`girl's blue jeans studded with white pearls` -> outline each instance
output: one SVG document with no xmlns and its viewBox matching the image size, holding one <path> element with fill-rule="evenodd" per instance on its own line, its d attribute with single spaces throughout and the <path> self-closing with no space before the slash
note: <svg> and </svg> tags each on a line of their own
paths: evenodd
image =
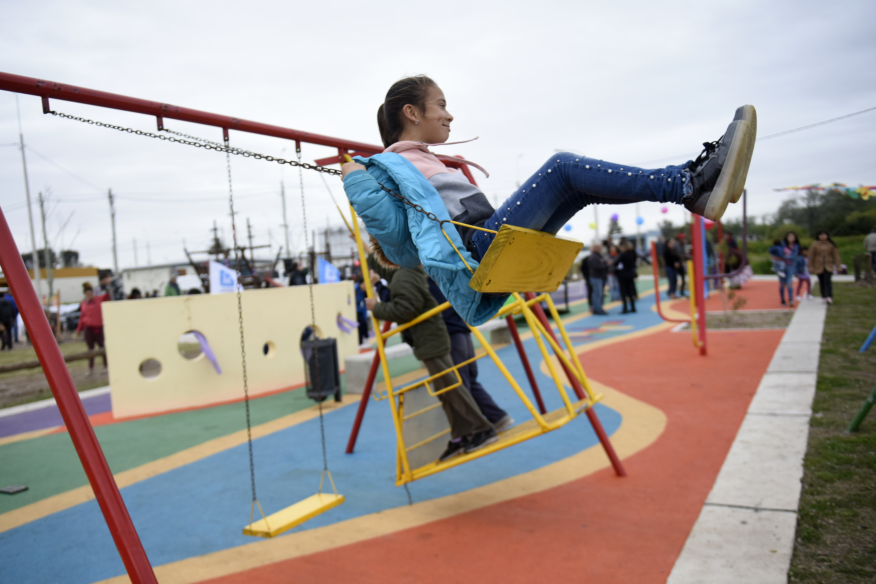
<svg viewBox="0 0 876 584">
<path fill-rule="evenodd" d="M 484 227 L 498 229 L 507 223 L 556 233 L 588 205 L 637 201 L 681 204 L 692 189 L 687 164 L 644 169 L 559 152 L 502 203 Z M 477 260 L 484 257 L 493 237 L 485 231 L 472 237 Z"/>
</svg>

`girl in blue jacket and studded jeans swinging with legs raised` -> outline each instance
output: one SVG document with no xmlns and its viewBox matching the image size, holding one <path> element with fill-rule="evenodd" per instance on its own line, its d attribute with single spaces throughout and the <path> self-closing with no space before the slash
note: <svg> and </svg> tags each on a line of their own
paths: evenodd
<svg viewBox="0 0 876 584">
<path fill-rule="evenodd" d="M 495 230 L 507 223 L 555 234 L 587 205 L 635 201 L 676 203 L 714 221 L 742 194 L 757 134 L 754 107 L 744 105 L 724 136 L 704 143 L 696 160 L 683 165 L 643 169 L 560 152 L 494 209 L 477 186 L 443 165 L 441 158 L 475 166 L 489 176 L 483 168 L 429 151 L 447 143 L 452 121 L 434 81 L 425 75 L 396 81 L 378 108 L 386 150 L 343 165 L 343 187 L 368 229 L 376 257 L 387 267 L 422 264 L 472 326 L 490 320 L 508 296 L 475 292 L 469 286 L 471 271 L 465 263 L 476 269 L 495 235 L 458 225 L 444 229 L 457 254 L 442 233 L 442 223 L 399 196 L 440 221 Z"/>
</svg>

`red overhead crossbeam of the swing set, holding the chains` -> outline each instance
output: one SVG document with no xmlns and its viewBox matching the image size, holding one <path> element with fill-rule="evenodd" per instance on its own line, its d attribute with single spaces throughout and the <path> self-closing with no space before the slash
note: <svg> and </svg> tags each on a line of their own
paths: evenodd
<svg viewBox="0 0 876 584">
<path fill-rule="evenodd" d="M 147 116 L 156 116 L 159 120 L 169 117 L 175 120 L 182 120 L 183 122 L 202 123 L 204 125 L 215 126 L 227 130 L 238 130 L 242 132 L 250 132 L 252 134 L 262 134 L 264 136 L 281 137 L 286 138 L 287 140 L 307 142 L 307 144 L 321 144 L 323 146 L 363 151 L 371 154 L 377 154 L 378 152 L 384 151 L 383 146 L 376 146 L 374 144 L 364 144 L 362 142 L 353 142 L 352 140 L 343 140 L 336 137 L 321 136 L 311 132 L 281 128 L 268 123 L 251 122 L 233 116 L 220 116 L 219 114 L 211 114 L 207 111 L 200 111 L 198 109 L 180 108 L 180 106 L 170 105 L 169 103 L 150 102 L 149 100 L 138 99 L 137 97 L 110 94 L 106 91 L 80 88 L 73 85 L 66 85 L 64 83 L 36 79 L 34 77 L 4 73 L 2 71 L 0 71 L 0 89 L 19 94 L 39 95 L 40 97 L 46 98 L 44 100 L 44 108 L 48 103 L 49 98 L 60 99 L 67 102 L 87 103 L 88 105 L 96 105 L 102 108 L 121 109 L 123 111 L 145 114 Z M 48 112 L 44 109 L 44 113 Z"/>
</svg>

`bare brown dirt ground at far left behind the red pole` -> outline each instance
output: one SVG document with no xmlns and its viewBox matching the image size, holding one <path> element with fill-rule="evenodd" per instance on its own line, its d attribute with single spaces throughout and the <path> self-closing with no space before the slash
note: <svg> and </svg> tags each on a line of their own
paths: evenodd
<svg viewBox="0 0 876 584">
<path fill-rule="evenodd" d="M 21 340 L 24 341 L 24 339 Z M 64 355 L 70 355 L 83 353 L 88 350 L 88 347 L 85 345 L 85 341 L 80 341 L 70 335 L 61 339 L 60 350 Z M 37 354 L 33 347 L 25 342 L 17 343 L 11 351 L 0 351 L 0 365 L 32 361 L 36 358 Z M 73 377 L 77 391 L 91 390 L 109 384 L 107 371 L 103 369 L 102 357 L 95 359 L 95 372 L 92 376 L 88 376 L 88 360 L 86 359 L 68 362 L 67 369 L 70 371 L 70 376 Z M 49 389 L 42 368 L 19 369 L 18 371 L 0 373 L 0 408 L 51 397 L 52 390 Z"/>
</svg>

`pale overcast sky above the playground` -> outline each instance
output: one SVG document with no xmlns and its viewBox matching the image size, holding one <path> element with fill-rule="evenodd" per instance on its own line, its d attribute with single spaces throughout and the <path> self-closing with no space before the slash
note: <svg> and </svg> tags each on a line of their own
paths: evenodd
<svg viewBox="0 0 876 584">
<path fill-rule="evenodd" d="M 0 2 L 0 70 L 379 144 L 378 105 L 393 81 L 425 73 L 456 116 L 436 148 L 491 172 L 491 201 L 512 193 L 557 149 L 646 167 L 681 164 L 720 137 L 734 110 L 758 109 L 759 135 L 876 106 L 873 2 Z M 223 154 L 44 116 L 19 96 L 31 193 L 51 190 L 46 225 L 55 249 L 112 266 L 106 189 L 117 193 L 120 267 L 184 259 L 213 222 L 230 239 Z M 53 100 L 53 109 L 141 130 L 148 116 Z M 166 120 L 220 140 L 221 130 Z M 0 144 L 18 142 L 15 95 L 0 91 Z M 294 145 L 231 132 L 231 143 L 286 158 Z M 774 212 L 781 186 L 876 184 L 876 111 L 759 143 L 748 175 L 749 215 Z M 285 151 L 283 149 L 286 149 Z M 40 158 L 36 152 L 71 174 Z M 305 144 L 304 158 L 329 156 Z M 688 154 L 688 157 L 679 155 Z M 693 156 L 691 156 L 693 155 Z M 675 158 L 672 158 L 675 157 Z M 668 159 L 666 159 L 668 158 Z M 659 161 L 659 162 L 654 162 Z M 232 161 L 240 222 L 255 243 L 283 244 L 281 180 L 292 247 L 302 249 L 298 171 Z M 343 204 L 341 181 L 326 177 Z M 304 172 L 308 229 L 341 223 L 326 186 Z M 21 154 L 0 146 L 0 208 L 30 250 Z M 617 212 L 597 206 L 604 234 Z M 39 208 L 34 207 L 35 220 Z M 644 228 L 681 222 L 641 203 Z M 725 217 L 741 215 L 741 205 Z M 590 241 L 592 208 L 570 236 Z M 66 227 L 62 226 L 66 222 Z M 39 224 L 38 224 L 39 225 Z M 39 226 L 38 226 L 39 229 Z M 239 229 L 239 228 L 238 228 Z M 38 235 L 41 245 L 41 235 Z"/>
</svg>

